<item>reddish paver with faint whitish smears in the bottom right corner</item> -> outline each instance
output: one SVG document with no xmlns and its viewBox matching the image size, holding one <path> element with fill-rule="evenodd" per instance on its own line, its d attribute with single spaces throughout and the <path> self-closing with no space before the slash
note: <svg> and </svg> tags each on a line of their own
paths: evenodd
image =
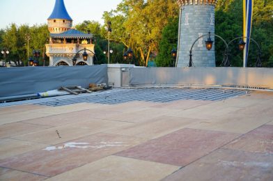
<svg viewBox="0 0 273 181">
<path fill-rule="evenodd" d="M 273 180 L 273 157 L 220 149 L 164 180 Z"/>
</svg>

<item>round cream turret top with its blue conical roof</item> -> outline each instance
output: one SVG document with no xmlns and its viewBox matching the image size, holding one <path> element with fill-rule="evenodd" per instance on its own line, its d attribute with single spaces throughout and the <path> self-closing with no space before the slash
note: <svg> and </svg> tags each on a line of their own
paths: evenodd
<svg viewBox="0 0 273 181">
<path fill-rule="evenodd" d="M 72 27 L 72 18 L 68 15 L 63 0 L 56 0 L 52 14 L 47 19 L 50 33 L 62 33 Z"/>
</svg>

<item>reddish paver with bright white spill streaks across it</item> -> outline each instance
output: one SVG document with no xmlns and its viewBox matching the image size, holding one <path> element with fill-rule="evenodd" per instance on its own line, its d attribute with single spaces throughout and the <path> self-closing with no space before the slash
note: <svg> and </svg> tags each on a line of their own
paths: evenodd
<svg viewBox="0 0 273 181">
<path fill-rule="evenodd" d="M 0 166 L 54 176 L 143 143 L 143 139 L 116 134 L 93 134 L 59 145 L 0 160 Z"/>
</svg>

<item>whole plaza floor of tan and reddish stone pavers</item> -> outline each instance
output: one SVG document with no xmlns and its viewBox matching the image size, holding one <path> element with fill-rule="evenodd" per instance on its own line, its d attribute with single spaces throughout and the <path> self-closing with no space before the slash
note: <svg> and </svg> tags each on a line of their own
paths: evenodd
<svg viewBox="0 0 273 181">
<path fill-rule="evenodd" d="M 273 180 L 273 92 L 210 91 L 1 103 L 0 180 Z"/>
</svg>

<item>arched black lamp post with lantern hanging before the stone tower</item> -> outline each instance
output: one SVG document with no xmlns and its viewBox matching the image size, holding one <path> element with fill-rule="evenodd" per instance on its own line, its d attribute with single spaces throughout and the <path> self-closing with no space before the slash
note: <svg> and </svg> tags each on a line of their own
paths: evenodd
<svg viewBox="0 0 273 181">
<path fill-rule="evenodd" d="M 192 47 L 191 49 L 189 50 L 189 67 L 192 67 L 193 65 L 193 62 L 192 62 L 192 48 L 194 47 L 194 44 L 200 39 L 200 38 L 203 38 L 204 36 L 208 36 L 208 40 L 205 41 L 205 47 L 210 51 L 210 49 L 212 49 L 212 44 L 213 44 L 213 41 L 212 39 L 210 38 L 210 35 L 211 33 L 208 32 L 208 34 L 205 34 L 203 36 L 199 36 L 195 41 L 194 43 L 192 44 Z M 226 43 L 226 41 L 221 38 L 221 36 L 218 36 L 216 34 L 213 34 L 214 36 L 217 36 L 218 38 L 220 38 L 226 45 L 226 49 L 225 49 L 225 52 L 224 52 L 224 60 L 226 60 L 226 62 L 228 62 L 228 44 Z"/>
</svg>

